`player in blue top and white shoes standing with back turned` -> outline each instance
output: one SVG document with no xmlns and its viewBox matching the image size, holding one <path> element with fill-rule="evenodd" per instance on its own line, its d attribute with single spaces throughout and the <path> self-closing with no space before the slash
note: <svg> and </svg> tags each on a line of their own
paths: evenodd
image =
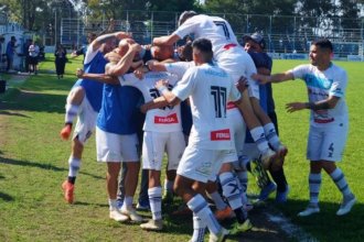
<svg viewBox="0 0 364 242">
<path fill-rule="evenodd" d="M 108 64 L 106 66 L 106 75 L 96 75 L 97 80 L 106 82 L 96 127 L 97 161 L 107 164 L 109 217 L 120 222 L 129 219 L 136 222 L 142 221 L 142 218 L 132 208 L 140 162 L 138 138 L 131 117 L 140 97 L 137 89 L 120 87 L 120 85 L 115 85 L 114 82 L 109 84 L 107 82 L 108 79 L 103 78 L 103 76 L 117 77 L 129 72 L 135 64 L 135 56 L 140 50 L 140 45 L 136 44 L 131 38 L 120 41 L 117 54 L 122 56 L 121 59 L 117 64 Z M 84 77 L 92 79 L 93 75 L 85 74 Z M 121 209 L 119 209 L 116 198 L 121 162 L 127 164 L 128 172 L 126 174 L 125 201 Z"/>
</svg>

